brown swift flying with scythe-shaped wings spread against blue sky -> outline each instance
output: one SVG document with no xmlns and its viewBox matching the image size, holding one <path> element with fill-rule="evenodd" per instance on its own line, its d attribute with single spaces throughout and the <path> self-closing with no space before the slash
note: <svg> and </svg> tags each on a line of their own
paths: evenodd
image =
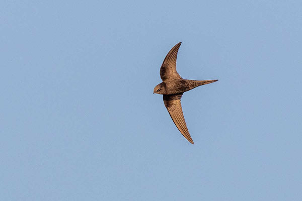
<svg viewBox="0 0 302 201">
<path fill-rule="evenodd" d="M 174 124 L 181 134 L 192 144 L 194 144 L 188 131 L 185 118 L 182 112 L 180 98 L 182 94 L 197 86 L 209 84 L 212 80 L 190 80 L 183 79 L 176 71 L 176 58 L 181 42 L 177 43 L 167 54 L 161 66 L 160 75 L 162 83 L 155 86 L 153 93 L 163 94 L 164 104 L 172 118 Z"/>
</svg>

